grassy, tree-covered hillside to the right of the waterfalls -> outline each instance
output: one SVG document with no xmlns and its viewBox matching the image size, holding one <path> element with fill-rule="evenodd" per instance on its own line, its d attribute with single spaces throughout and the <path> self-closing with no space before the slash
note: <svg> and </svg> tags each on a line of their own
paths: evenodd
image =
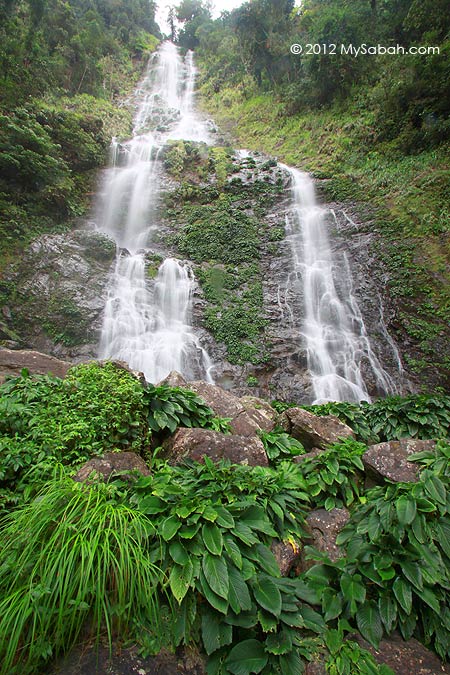
<svg viewBox="0 0 450 675">
<path fill-rule="evenodd" d="M 449 29 L 444 0 L 308 0 L 296 8 L 255 0 L 196 30 L 208 112 L 241 146 L 312 172 L 325 197 L 349 202 L 370 223 L 406 365 L 443 385 L 450 372 Z M 290 53 L 294 43 L 301 55 Z M 341 53 L 341 44 L 362 43 L 440 53 Z"/>
</svg>

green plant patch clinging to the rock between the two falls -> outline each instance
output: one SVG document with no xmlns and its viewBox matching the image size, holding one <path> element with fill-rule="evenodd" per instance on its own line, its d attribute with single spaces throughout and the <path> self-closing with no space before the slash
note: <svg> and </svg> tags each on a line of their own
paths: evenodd
<svg viewBox="0 0 450 675">
<path fill-rule="evenodd" d="M 231 363 L 268 358 L 260 259 L 284 230 L 264 215 L 282 191 L 273 164 L 234 159 L 227 148 L 178 141 L 165 166 L 181 185 L 166 197 L 171 236 L 181 256 L 194 263 L 207 306 L 204 325 L 224 343 Z M 247 171 L 251 182 L 236 174 Z M 272 251 L 273 252 L 273 251 Z"/>
</svg>

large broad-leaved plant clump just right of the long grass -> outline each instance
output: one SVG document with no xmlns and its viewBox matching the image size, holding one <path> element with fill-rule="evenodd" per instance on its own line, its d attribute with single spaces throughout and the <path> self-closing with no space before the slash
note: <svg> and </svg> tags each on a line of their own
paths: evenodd
<svg viewBox="0 0 450 675">
<path fill-rule="evenodd" d="M 308 604 L 318 599 L 302 582 L 281 579 L 270 550 L 273 539 L 303 534 L 307 495 L 297 471 L 205 458 L 161 466 L 134 487 L 133 503 L 160 537 L 154 560 L 179 604 L 174 644 L 188 642 L 200 621 L 211 674 L 287 675 L 305 651 L 311 658 L 324 629 Z"/>
</svg>

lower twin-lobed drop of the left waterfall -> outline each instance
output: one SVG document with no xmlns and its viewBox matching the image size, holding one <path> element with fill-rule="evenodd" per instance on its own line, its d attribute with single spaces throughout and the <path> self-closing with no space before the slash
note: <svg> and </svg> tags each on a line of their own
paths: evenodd
<svg viewBox="0 0 450 675">
<path fill-rule="evenodd" d="M 187 379 L 213 382 L 213 363 L 190 325 L 194 278 L 190 268 L 166 258 L 153 289 L 147 287 L 143 254 L 121 254 L 115 295 L 105 308 L 100 355 L 125 361 L 158 382 L 176 370 Z"/>
</svg>

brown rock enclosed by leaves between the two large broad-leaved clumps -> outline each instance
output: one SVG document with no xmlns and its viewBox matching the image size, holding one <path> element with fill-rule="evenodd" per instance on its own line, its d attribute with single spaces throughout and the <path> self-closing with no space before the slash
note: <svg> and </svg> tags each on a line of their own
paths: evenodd
<svg viewBox="0 0 450 675">
<path fill-rule="evenodd" d="M 343 553 L 336 544 L 336 537 L 344 525 L 348 523 L 350 514 L 347 509 L 316 509 L 311 511 L 306 524 L 311 535 L 311 546 L 326 553 L 333 562 L 342 557 Z M 304 572 L 314 565 L 313 560 L 306 560 L 303 556 L 300 560 L 300 570 Z"/>
</svg>

